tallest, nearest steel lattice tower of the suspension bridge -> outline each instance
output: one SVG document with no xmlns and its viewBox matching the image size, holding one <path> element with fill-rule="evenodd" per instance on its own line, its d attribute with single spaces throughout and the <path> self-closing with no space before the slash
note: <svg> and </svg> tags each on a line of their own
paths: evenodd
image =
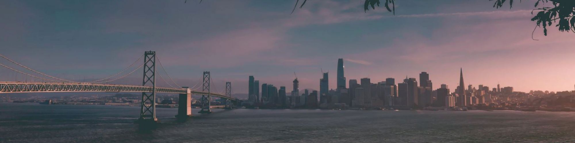
<svg viewBox="0 0 575 143">
<path fill-rule="evenodd" d="M 142 92 L 140 118 L 142 122 L 157 122 L 156 118 L 156 51 L 144 52 L 144 77 L 142 86 L 152 86 L 149 92 Z"/>
</svg>

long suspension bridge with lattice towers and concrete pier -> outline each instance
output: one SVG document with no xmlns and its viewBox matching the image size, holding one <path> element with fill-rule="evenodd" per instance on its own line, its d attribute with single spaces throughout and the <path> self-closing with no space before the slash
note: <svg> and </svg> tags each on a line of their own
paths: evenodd
<svg viewBox="0 0 575 143">
<path fill-rule="evenodd" d="M 23 67 L 26 70 L 29 70 L 33 73 L 39 74 L 41 76 L 34 76 L 33 74 L 25 73 L 15 68 L 3 65 L 0 63 L 0 66 L 6 67 L 7 69 L 13 70 L 14 72 L 25 74 L 26 76 L 37 78 L 43 81 L 49 82 L 5 82 L 0 81 L 0 93 L 50 93 L 50 92 L 137 92 L 141 93 L 141 101 L 140 101 L 140 118 L 137 122 L 140 123 L 155 123 L 158 122 L 158 118 L 156 118 L 156 93 L 171 93 L 171 94 L 179 94 L 178 100 L 178 114 L 176 115 L 179 119 L 185 119 L 191 117 L 191 95 L 200 95 L 200 104 L 201 109 L 200 112 L 202 114 L 212 113 L 212 105 L 210 105 L 210 101 L 212 97 L 218 97 L 225 99 L 225 105 L 223 106 L 224 109 L 232 109 L 233 102 L 236 99 L 232 98 L 232 86 L 231 82 L 225 82 L 225 93 L 216 93 L 212 91 L 210 85 L 213 84 L 212 77 L 210 72 L 204 72 L 202 74 L 202 85 L 195 87 L 200 83 L 194 85 L 194 87 L 179 87 L 179 85 L 171 79 L 171 77 L 167 74 L 166 69 L 162 66 L 162 63 L 159 61 L 159 58 L 156 56 L 155 51 L 145 51 L 144 55 L 136 60 L 140 61 L 140 59 L 144 58 L 144 63 L 140 66 L 136 67 L 132 72 L 129 72 L 123 76 L 120 76 L 121 73 L 126 72 L 129 67 L 135 65 L 136 62 L 132 63 L 132 65 L 128 66 L 121 72 L 114 74 L 113 76 L 102 78 L 100 80 L 89 81 L 89 82 L 76 82 L 71 80 L 64 80 L 62 78 L 57 78 L 54 76 L 49 76 L 48 74 L 44 74 L 38 72 L 37 70 L 33 70 L 27 66 L 21 65 L 20 63 L 13 61 L 10 58 L 5 57 L 4 55 L 0 55 L 0 57 L 7 59 L 8 61 Z M 168 80 L 173 82 L 174 85 L 178 87 L 174 87 L 164 79 L 161 74 L 156 74 L 156 61 L 158 61 L 160 67 L 162 67 L 164 73 L 166 73 Z M 116 85 L 116 84 L 105 84 L 111 81 L 116 81 L 121 78 L 124 78 L 132 73 L 134 73 L 138 69 L 143 69 L 143 78 L 142 84 L 140 85 Z M 168 86 L 171 88 L 162 88 L 156 86 L 156 76 L 159 76 L 161 80 L 166 82 Z M 116 77 L 116 78 L 113 78 Z M 218 106 L 219 107 L 219 106 Z"/>
</svg>

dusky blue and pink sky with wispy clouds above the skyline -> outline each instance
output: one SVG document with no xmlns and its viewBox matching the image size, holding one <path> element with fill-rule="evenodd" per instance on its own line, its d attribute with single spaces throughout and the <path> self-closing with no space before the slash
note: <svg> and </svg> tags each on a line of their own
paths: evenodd
<svg viewBox="0 0 575 143">
<path fill-rule="evenodd" d="M 296 0 L 199 2 L 0 1 L 0 54 L 55 77 L 89 81 L 152 50 L 166 69 L 156 69 L 163 78 L 192 87 L 209 71 L 216 90 L 230 81 L 234 93 L 247 93 L 248 76 L 292 90 L 294 72 L 300 89 L 318 90 L 322 70 L 335 89 L 338 58 L 347 80 L 419 80 L 427 72 L 434 88 L 453 90 L 462 68 L 474 87 L 574 90 L 575 33 L 533 31 L 535 1 L 496 9 L 488 0 L 405 0 L 396 2 L 395 15 L 384 7 L 364 12 L 356 0 L 308 1 L 293 14 Z M 3 67 L 0 73 L 2 81 L 41 81 Z M 141 73 L 110 83 L 141 85 Z"/>
</svg>

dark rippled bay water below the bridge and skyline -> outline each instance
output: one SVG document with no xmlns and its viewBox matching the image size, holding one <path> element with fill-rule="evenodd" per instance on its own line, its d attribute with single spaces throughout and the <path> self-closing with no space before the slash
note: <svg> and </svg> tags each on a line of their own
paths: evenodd
<svg viewBox="0 0 575 143">
<path fill-rule="evenodd" d="M 550 142 L 575 141 L 572 112 L 214 110 L 187 122 L 158 108 L 149 132 L 137 106 L 0 103 L 0 142 Z"/>
</svg>

